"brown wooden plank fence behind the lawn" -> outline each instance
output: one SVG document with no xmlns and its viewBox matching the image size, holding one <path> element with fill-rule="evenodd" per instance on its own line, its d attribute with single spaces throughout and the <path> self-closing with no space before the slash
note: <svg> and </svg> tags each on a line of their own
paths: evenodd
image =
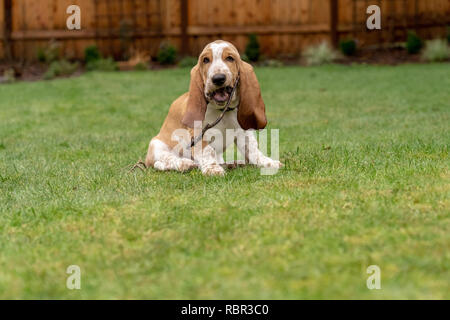
<svg viewBox="0 0 450 320">
<path fill-rule="evenodd" d="M 71 4 L 81 8 L 81 30 L 66 28 Z M 381 8 L 381 31 L 365 27 L 371 4 Z M 297 55 L 323 40 L 402 41 L 409 29 L 434 38 L 447 25 L 449 0 L 0 0 L 0 59 L 33 60 L 51 39 L 69 58 L 94 43 L 118 59 L 130 48 L 154 56 L 162 41 L 196 55 L 218 38 L 243 50 L 251 33 L 266 56 Z"/>
</svg>

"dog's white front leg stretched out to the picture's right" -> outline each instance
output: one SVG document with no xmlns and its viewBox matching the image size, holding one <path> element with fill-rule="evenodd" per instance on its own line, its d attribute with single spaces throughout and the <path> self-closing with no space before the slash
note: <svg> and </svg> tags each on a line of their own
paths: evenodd
<svg viewBox="0 0 450 320">
<path fill-rule="evenodd" d="M 253 130 L 240 131 L 236 145 L 239 152 L 245 155 L 245 162 L 256 165 L 261 168 L 279 169 L 283 165 L 278 160 L 273 160 L 266 157 L 258 148 L 258 141 L 256 140 Z"/>
</svg>

